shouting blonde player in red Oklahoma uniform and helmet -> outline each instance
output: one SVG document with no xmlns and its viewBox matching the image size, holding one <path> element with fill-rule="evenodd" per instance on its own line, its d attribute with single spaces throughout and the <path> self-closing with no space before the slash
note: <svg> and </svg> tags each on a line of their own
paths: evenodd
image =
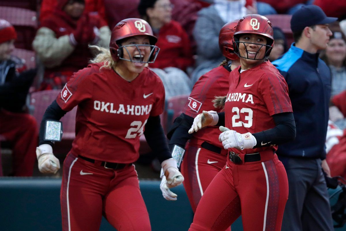
<svg viewBox="0 0 346 231">
<path fill-rule="evenodd" d="M 158 153 L 167 187 L 184 179 L 160 124 L 163 84 L 145 67 L 156 59 L 156 41 L 146 21 L 120 21 L 110 49 L 99 47 L 92 64 L 73 74 L 44 114 L 36 154 L 40 171 L 51 173 L 60 165 L 53 143 L 44 140 L 45 121 L 59 120 L 78 106 L 76 138 L 63 167 L 63 230 L 99 230 L 102 214 L 117 230 L 151 230 L 132 164 L 139 157 L 142 134 Z"/>
</svg>

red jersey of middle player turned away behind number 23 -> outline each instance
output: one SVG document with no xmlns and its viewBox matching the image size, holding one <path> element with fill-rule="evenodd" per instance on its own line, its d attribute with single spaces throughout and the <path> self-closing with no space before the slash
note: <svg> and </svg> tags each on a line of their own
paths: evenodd
<svg viewBox="0 0 346 231">
<path fill-rule="evenodd" d="M 215 109 L 212 100 L 215 96 L 225 96 L 228 91 L 229 71 L 224 66 L 218 66 L 206 74 L 202 75 L 193 86 L 192 92 L 183 109 L 185 115 L 196 117 L 203 110 L 214 110 L 220 112 L 221 109 Z M 206 127 L 193 133 L 190 144 L 197 143 L 201 145 L 207 141 L 215 146 L 224 148 L 219 141 L 220 130 L 218 127 Z"/>
</svg>

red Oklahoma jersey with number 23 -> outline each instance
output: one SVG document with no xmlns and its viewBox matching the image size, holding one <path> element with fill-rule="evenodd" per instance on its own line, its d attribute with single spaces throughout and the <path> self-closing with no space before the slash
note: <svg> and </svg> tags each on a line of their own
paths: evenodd
<svg viewBox="0 0 346 231">
<path fill-rule="evenodd" d="M 225 124 L 241 134 L 256 133 L 275 127 L 272 115 L 292 112 L 288 86 L 279 71 L 269 61 L 239 72 L 240 66 L 230 72 L 229 91 L 225 104 Z M 270 147 L 238 150 L 235 153 L 255 153 Z"/>
</svg>

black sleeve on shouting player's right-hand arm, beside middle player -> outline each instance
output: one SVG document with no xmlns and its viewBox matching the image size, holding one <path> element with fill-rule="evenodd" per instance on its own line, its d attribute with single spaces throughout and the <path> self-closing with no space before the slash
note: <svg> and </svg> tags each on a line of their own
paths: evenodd
<svg viewBox="0 0 346 231">
<path fill-rule="evenodd" d="M 172 158 L 165 133 L 160 123 L 160 116 L 149 116 L 145 125 L 144 136 L 160 163 Z"/>
</svg>

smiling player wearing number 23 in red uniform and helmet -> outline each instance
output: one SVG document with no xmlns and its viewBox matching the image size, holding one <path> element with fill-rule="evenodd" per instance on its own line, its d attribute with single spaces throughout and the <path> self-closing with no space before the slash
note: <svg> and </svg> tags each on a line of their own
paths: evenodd
<svg viewBox="0 0 346 231">
<path fill-rule="evenodd" d="M 287 84 L 268 61 L 273 29 L 261 15 L 239 20 L 233 37 L 240 66 L 230 72 L 224 113 L 197 115 L 189 133 L 220 126 L 229 151 L 224 168 L 201 198 L 190 231 L 225 230 L 242 215 L 244 231 L 281 230 L 288 181 L 277 145 L 295 137 Z M 234 130 L 229 130 L 233 128 Z"/>
</svg>

